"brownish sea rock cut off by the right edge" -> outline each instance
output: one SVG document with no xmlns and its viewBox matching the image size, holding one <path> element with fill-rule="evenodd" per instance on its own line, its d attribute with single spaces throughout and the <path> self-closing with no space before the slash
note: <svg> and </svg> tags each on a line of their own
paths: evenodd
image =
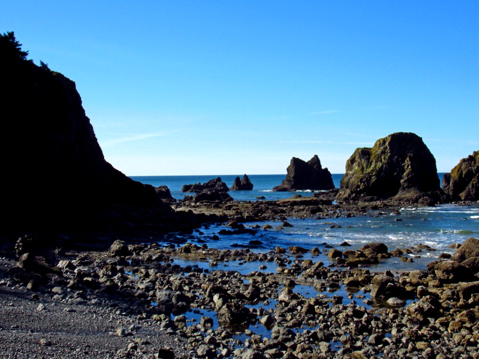
<svg viewBox="0 0 479 359">
<path fill-rule="evenodd" d="M 479 200 L 479 151 L 462 159 L 444 175 L 443 190 L 453 199 Z"/>
</svg>

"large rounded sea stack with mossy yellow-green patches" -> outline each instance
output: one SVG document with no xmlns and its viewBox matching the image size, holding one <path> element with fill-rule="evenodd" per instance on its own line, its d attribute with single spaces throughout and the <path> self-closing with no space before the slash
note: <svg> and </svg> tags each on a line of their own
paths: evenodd
<svg viewBox="0 0 479 359">
<path fill-rule="evenodd" d="M 421 137 L 398 132 L 373 148 L 358 148 L 346 163 L 338 200 L 409 197 L 440 191 L 436 160 Z"/>
</svg>

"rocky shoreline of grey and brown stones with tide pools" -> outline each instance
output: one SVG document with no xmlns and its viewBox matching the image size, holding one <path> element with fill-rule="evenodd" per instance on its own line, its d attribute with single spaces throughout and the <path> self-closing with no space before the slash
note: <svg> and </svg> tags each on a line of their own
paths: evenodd
<svg viewBox="0 0 479 359">
<path fill-rule="evenodd" d="M 115 241 L 40 257 L 22 254 L 23 238 L 18 261 L 0 259 L 0 349 L 8 358 L 479 358 L 478 242 L 428 270 L 373 273 L 354 257 L 385 259 L 384 245 L 304 260 L 300 247 Z M 341 260 L 325 266 L 325 256 Z M 258 270 L 229 271 L 232 262 Z M 264 271 L 273 262 L 276 272 Z"/>
</svg>

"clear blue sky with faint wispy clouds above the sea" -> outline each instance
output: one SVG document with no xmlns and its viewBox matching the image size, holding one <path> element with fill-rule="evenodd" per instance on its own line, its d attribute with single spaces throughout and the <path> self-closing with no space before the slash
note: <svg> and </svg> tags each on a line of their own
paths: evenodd
<svg viewBox="0 0 479 359">
<path fill-rule="evenodd" d="M 0 24 L 130 176 L 344 173 L 398 131 L 439 172 L 479 150 L 479 1 L 2 1 Z"/>
</svg>

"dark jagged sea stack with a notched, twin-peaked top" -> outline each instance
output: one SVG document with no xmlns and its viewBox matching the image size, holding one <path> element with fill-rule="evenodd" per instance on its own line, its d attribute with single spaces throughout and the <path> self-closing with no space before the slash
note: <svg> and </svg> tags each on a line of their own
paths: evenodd
<svg viewBox="0 0 479 359">
<path fill-rule="evenodd" d="M 323 169 L 321 167 L 317 155 L 314 155 L 308 162 L 293 157 L 286 172 L 286 178 L 282 180 L 280 185 L 275 186 L 273 191 L 327 190 L 334 188 L 331 173 L 327 168 Z"/>
</svg>

